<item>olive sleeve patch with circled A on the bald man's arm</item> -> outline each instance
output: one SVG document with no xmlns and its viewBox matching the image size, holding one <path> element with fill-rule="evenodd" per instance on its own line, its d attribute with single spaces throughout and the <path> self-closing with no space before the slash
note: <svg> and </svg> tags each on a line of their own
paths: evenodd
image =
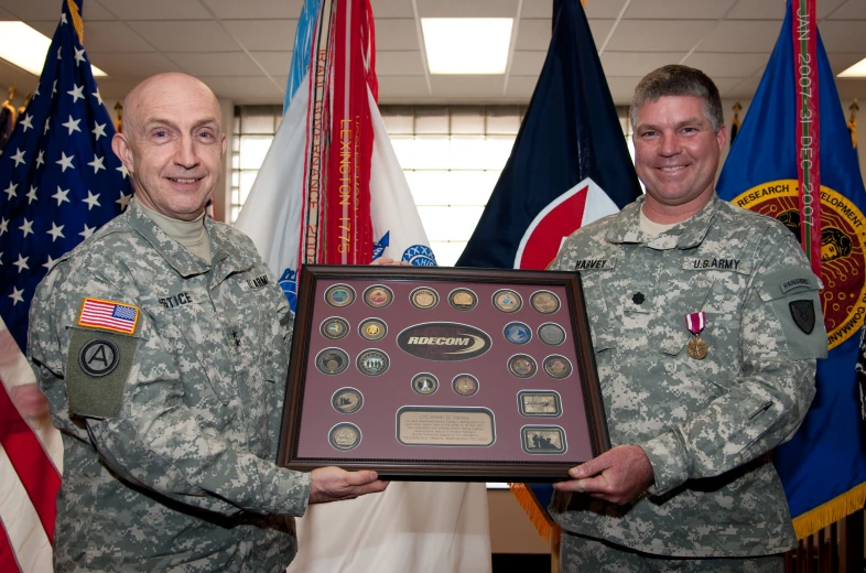
<svg viewBox="0 0 866 573">
<path fill-rule="evenodd" d="M 88 418 L 117 418 L 123 387 L 136 363 L 139 338 L 110 332 L 69 328 L 66 392 L 69 412 Z"/>
</svg>

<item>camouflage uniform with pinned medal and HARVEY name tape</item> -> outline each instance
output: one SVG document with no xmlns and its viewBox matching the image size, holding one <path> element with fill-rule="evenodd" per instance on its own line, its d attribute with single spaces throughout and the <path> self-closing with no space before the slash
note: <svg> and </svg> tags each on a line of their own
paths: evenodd
<svg viewBox="0 0 866 573">
<path fill-rule="evenodd" d="M 641 446 L 654 484 L 627 506 L 555 493 L 551 511 L 569 531 L 654 555 L 783 552 L 795 538 L 764 454 L 814 396 L 819 281 L 773 219 L 714 195 L 653 238 L 642 204 L 576 231 L 552 268 L 581 272 L 610 442 Z M 686 353 L 685 315 L 699 311 L 703 360 Z"/>
</svg>

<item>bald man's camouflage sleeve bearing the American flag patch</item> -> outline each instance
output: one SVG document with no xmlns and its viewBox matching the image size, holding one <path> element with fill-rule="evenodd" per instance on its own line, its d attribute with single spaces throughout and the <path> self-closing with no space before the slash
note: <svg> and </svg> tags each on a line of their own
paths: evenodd
<svg viewBox="0 0 866 573">
<path fill-rule="evenodd" d="M 63 267 L 37 289 L 29 344 L 31 365 L 48 397 L 55 425 L 89 441 L 120 478 L 188 506 L 224 515 L 240 510 L 303 515 L 310 475 L 281 468 L 199 425 L 202 417 L 216 414 L 185 404 L 180 372 L 188 365 L 176 364 L 176 356 L 147 313 L 140 314 L 132 335 L 84 331 L 85 343 L 113 342 L 121 361 L 110 375 L 78 380 L 86 382 L 85 389 L 105 394 L 101 406 L 97 404 L 99 415 L 87 415 L 82 407 L 71 403 L 75 391 L 82 391 L 80 386 L 73 387 L 78 368 L 74 361 L 89 357 L 94 368 L 101 370 L 111 352 L 110 346 L 99 350 L 98 345 L 79 349 L 86 347 L 76 343 L 82 333 L 76 326 L 82 300 L 87 296 L 139 305 L 136 284 L 123 282 L 120 273 L 94 273 L 84 268 L 86 264 Z M 97 352 L 102 354 L 94 354 Z M 118 371 L 121 380 L 115 383 L 109 377 Z M 117 393 L 116 401 L 112 393 Z"/>
</svg>

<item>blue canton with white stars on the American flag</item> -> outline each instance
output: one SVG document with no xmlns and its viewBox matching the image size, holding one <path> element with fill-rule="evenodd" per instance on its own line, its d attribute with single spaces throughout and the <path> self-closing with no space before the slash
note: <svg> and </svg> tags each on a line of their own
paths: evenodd
<svg viewBox="0 0 866 573">
<path fill-rule="evenodd" d="M 62 4 L 36 91 L 0 155 L 0 316 L 22 352 L 30 301 L 53 261 L 117 216 L 132 193 L 76 32 L 78 10 Z"/>
</svg>

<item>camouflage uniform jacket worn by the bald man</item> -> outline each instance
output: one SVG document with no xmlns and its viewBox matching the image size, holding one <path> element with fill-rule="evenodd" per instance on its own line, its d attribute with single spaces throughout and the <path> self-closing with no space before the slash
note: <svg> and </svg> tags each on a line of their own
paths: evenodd
<svg viewBox="0 0 866 573">
<path fill-rule="evenodd" d="M 310 476 L 274 463 L 288 304 L 246 236 L 205 226 L 213 263 L 132 202 L 36 291 L 28 356 L 64 444 L 57 572 L 275 572 L 297 550 Z M 133 332 L 83 327 L 88 298 L 139 309 Z"/>
</svg>

